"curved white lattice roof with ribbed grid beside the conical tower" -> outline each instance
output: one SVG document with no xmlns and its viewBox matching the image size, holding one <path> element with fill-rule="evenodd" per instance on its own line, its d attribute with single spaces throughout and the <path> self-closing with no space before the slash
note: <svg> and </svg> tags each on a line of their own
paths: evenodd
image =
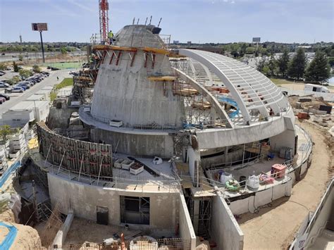
<svg viewBox="0 0 334 250">
<path fill-rule="evenodd" d="M 223 82 L 237 102 L 245 121 L 250 120 L 249 113 L 254 109 L 268 117 L 271 109 L 278 114 L 289 105 L 280 89 L 268 77 L 245 63 L 209 51 L 180 49 L 179 53 L 201 63 L 207 79 L 211 80 L 213 77 L 210 74 L 214 73 Z"/>
</svg>

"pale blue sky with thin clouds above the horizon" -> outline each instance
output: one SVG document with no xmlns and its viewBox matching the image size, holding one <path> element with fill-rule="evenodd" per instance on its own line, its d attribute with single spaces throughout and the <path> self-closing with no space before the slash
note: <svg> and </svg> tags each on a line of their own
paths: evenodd
<svg viewBox="0 0 334 250">
<path fill-rule="evenodd" d="M 99 32 L 98 0 L 0 0 L 0 41 L 39 42 L 31 23 L 48 23 L 45 42 L 89 42 Z M 140 18 L 161 34 L 193 43 L 333 42 L 333 0 L 109 0 L 116 33 Z"/>
</svg>

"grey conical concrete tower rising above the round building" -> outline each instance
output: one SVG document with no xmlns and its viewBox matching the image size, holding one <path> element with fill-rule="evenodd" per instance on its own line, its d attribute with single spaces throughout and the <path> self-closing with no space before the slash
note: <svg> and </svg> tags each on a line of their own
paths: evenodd
<svg viewBox="0 0 334 250">
<path fill-rule="evenodd" d="M 128 25 L 120 30 L 114 45 L 127 48 L 163 49 L 151 25 Z M 132 58 L 135 56 L 134 60 Z M 109 51 L 101 63 L 94 87 L 91 114 L 95 120 L 122 120 L 125 127 L 182 127 L 184 105 L 174 96 L 172 85 L 152 82 L 150 76 L 173 75 L 165 54 L 137 50 Z"/>
</svg>

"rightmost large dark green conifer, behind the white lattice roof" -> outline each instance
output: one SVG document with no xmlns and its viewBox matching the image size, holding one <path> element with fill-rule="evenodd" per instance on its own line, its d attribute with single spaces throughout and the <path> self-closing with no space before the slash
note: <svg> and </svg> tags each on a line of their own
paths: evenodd
<svg viewBox="0 0 334 250">
<path fill-rule="evenodd" d="M 305 77 L 311 82 L 325 82 L 330 78 L 330 65 L 325 53 L 316 51 L 316 56 L 309 64 Z"/>
</svg>

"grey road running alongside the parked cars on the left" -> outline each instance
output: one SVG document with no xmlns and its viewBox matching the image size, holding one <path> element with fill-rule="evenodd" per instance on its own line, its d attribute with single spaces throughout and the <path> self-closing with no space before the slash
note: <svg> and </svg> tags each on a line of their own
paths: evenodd
<svg viewBox="0 0 334 250">
<path fill-rule="evenodd" d="M 29 96 L 32 96 L 36 92 L 38 92 L 40 89 L 43 89 L 44 87 L 47 86 L 54 86 L 57 83 L 61 82 L 63 78 L 65 77 L 71 77 L 68 73 L 70 70 L 57 70 L 50 72 L 50 76 L 44 78 L 41 82 L 37 83 L 36 85 L 30 87 L 30 89 L 27 89 L 23 93 L 13 93 L 9 94 L 11 96 L 11 99 L 8 101 L 5 101 L 4 104 L 0 105 L 0 120 L 2 123 L 1 116 L 3 113 L 8 111 L 9 108 L 13 107 L 14 105 L 18 104 L 20 101 L 25 101 Z M 57 81 L 57 77 L 59 80 Z M 0 90 L 1 93 L 4 92 L 4 89 Z"/>
</svg>

